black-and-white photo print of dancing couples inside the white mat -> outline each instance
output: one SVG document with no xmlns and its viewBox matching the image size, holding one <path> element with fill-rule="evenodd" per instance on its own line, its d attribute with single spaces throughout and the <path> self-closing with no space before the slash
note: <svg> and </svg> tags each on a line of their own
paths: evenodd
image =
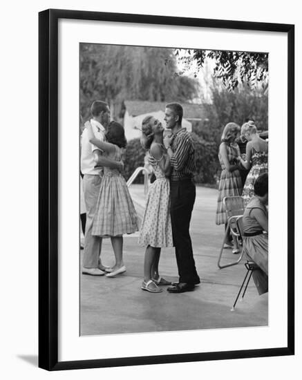
<svg viewBox="0 0 302 380">
<path fill-rule="evenodd" d="M 79 334 L 269 323 L 269 54 L 79 44 Z"/>
</svg>

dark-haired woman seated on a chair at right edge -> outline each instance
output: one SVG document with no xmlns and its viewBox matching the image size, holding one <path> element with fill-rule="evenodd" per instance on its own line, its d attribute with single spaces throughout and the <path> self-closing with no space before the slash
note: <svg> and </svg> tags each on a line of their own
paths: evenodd
<svg viewBox="0 0 302 380">
<path fill-rule="evenodd" d="M 253 272 L 259 294 L 268 292 L 268 175 L 259 175 L 254 184 L 254 197 L 243 213 L 243 250 L 260 269 Z"/>
</svg>

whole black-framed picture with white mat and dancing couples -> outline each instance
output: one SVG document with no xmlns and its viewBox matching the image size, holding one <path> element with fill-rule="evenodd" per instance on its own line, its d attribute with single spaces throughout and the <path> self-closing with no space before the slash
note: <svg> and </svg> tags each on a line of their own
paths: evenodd
<svg viewBox="0 0 302 380">
<path fill-rule="evenodd" d="M 39 366 L 292 354 L 293 26 L 39 27 Z"/>
</svg>

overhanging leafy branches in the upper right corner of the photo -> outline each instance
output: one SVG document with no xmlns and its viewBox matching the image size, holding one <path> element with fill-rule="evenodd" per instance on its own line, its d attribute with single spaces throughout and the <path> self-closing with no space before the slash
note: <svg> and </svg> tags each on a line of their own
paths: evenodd
<svg viewBox="0 0 302 380">
<path fill-rule="evenodd" d="M 265 82 L 268 78 L 267 53 L 176 49 L 175 55 L 185 67 L 182 73 L 195 64 L 195 76 L 204 66 L 206 59 L 213 59 L 214 77 L 220 78 L 229 91 L 233 91 L 240 82 L 254 88 L 257 82 Z"/>
</svg>

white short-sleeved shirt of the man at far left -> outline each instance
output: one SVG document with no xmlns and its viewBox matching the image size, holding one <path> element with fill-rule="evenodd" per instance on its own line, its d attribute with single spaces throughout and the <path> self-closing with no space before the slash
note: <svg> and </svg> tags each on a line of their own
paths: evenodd
<svg viewBox="0 0 302 380">
<path fill-rule="evenodd" d="M 105 140 L 105 129 L 102 124 L 97 122 L 96 120 L 91 119 L 91 125 L 93 127 L 93 133 L 95 137 L 100 139 L 101 141 Z M 81 152 L 81 171 L 83 174 L 91 174 L 91 175 L 100 175 L 102 173 L 103 168 L 97 167 L 95 168 L 95 160 L 93 160 L 93 151 L 101 149 L 97 148 L 97 146 L 91 144 L 88 140 L 87 129 L 84 129 L 82 133 L 82 152 Z"/>
</svg>

